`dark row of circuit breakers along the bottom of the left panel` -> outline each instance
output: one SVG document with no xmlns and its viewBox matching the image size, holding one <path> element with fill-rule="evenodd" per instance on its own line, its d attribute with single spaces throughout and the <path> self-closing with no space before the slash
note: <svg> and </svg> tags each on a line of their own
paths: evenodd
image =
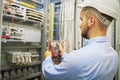
<svg viewBox="0 0 120 80">
<path fill-rule="evenodd" d="M 40 75 L 40 65 L 14 68 L 0 73 L 0 80 L 38 80 L 31 79 Z M 24 78 L 23 78 L 24 77 Z"/>
</svg>

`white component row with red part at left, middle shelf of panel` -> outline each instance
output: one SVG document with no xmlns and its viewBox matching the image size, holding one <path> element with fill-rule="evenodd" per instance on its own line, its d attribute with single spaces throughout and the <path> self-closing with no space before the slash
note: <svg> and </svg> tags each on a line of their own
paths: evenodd
<svg viewBox="0 0 120 80">
<path fill-rule="evenodd" d="M 41 42 L 41 31 L 11 26 L 2 27 L 2 42 L 18 40 L 22 42 Z"/>
</svg>

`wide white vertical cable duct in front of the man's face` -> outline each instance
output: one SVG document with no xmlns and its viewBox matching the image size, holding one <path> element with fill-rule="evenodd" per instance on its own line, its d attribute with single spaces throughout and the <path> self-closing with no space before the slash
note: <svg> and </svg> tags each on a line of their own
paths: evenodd
<svg viewBox="0 0 120 80">
<path fill-rule="evenodd" d="M 74 49 L 75 0 L 61 0 L 60 42 L 66 52 Z"/>
</svg>

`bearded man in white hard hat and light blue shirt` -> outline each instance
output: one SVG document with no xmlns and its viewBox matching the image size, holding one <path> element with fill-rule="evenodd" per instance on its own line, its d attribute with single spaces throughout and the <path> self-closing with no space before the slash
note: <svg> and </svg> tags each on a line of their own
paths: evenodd
<svg viewBox="0 0 120 80">
<path fill-rule="evenodd" d="M 106 37 L 106 31 L 117 18 L 117 3 L 116 0 L 85 0 L 80 5 L 81 35 L 89 40 L 83 48 L 69 54 L 58 43 L 62 55 L 62 62 L 58 65 L 53 63 L 51 52 L 46 51 L 42 71 L 47 80 L 113 80 L 118 56 Z"/>
</svg>

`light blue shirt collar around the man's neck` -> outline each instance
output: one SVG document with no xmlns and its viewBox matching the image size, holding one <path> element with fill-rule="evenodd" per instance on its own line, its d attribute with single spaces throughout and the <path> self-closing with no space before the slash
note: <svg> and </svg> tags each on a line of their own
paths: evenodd
<svg viewBox="0 0 120 80">
<path fill-rule="evenodd" d="M 102 42 L 108 42 L 108 38 L 106 36 L 91 38 L 84 43 L 84 46 L 87 46 L 92 43 L 102 43 Z"/>
</svg>

